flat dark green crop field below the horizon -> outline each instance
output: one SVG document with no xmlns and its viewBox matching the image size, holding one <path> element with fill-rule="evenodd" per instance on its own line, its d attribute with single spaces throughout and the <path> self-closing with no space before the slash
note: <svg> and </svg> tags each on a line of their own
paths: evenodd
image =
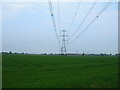
<svg viewBox="0 0 120 90">
<path fill-rule="evenodd" d="M 117 56 L 3 55 L 3 88 L 116 88 Z"/>
</svg>

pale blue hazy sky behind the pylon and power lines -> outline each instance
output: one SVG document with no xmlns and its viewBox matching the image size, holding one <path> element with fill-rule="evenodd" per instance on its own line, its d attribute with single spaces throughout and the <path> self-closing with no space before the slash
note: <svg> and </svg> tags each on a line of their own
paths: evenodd
<svg viewBox="0 0 120 90">
<path fill-rule="evenodd" d="M 82 22 L 93 2 L 81 2 L 73 26 L 71 24 L 78 2 L 60 2 L 61 29 L 71 35 Z M 97 2 L 79 31 L 78 36 L 95 18 L 107 2 Z M 52 2 L 58 34 L 58 6 Z M 48 2 L 9 2 L 3 4 L 2 50 L 30 53 L 59 53 Z M 112 53 L 118 52 L 118 3 L 113 2 L 98 19 L 70 43 L 67 52 Z"/>
</svg>

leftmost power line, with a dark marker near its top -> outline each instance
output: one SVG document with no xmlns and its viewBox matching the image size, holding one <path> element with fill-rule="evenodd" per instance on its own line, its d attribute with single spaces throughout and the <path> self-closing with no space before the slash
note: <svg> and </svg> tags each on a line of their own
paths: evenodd
<svg viewBox="0 0 120 90">
<path fill-rule="evenodd" d="M 55 18 L 54 18 L 54 14 L 53 14 L 53 8 L 52 8 L 51 0 L 48 1 L 48 4 L 49 4 L 50 14 L 51 14 L 52 21 L 53 21 L 53 26 L 54 26 L 55 35 L 56 35 L 58 44 L 60 45 L 60 41 L 59 41 L 59 36 L 58 36 L 58 34 L 57 34 L 57 28 L 56 28 Z"/>
</svg>

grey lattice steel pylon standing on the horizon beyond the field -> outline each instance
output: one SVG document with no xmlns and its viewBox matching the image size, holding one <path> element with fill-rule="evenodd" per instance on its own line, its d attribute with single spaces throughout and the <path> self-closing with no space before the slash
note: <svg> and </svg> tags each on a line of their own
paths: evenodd
<svg viewBox="0 0 120 90">
<path fill-rule="evenodd" d="M 66 54 L 66 44 L 68 42 L 68 40 L 67 40 L 67 38 L 68 38 L 67 30 L 65 30 L 65 29 L 61 30 L 60 36 L 62 37 L 61 54 L 64 55 L 64 54 Z"/>
</svg>

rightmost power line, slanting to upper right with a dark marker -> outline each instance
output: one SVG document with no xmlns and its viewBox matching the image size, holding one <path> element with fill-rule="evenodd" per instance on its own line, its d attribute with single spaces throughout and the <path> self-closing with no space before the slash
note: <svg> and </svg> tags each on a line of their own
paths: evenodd
<svg viewBox="0 0 120 90">
<path fill-rule="evenodd" d="M 105 7 L 98 13 L 98 15 L 87 25 L 87 27 L 75 38 L 73 39 L 70 43 L 78 39 L 88 28 L 96 21 L 96 19 L 107 9 L 107 7 L 111 4 L 111 2 L 108 2 Z"/>
</svg>

